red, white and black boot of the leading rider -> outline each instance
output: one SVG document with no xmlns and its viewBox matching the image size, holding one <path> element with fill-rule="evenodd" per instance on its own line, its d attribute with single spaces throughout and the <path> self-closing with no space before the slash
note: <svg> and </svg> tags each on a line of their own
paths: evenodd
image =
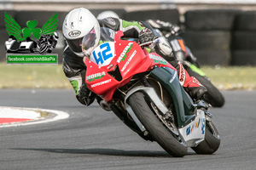
<svg viewBox="0 0 256 170">
<path fill-rule="evenodd" d="M 207 93 L 207 88 L 201 85 L 195 77 L 190 77 L 182 64 L 178 63 L 178 67 L 178 79 L 183 88 L 189 92 L 193 99 L 201 99 L 201 97 Z"/>
</svg>

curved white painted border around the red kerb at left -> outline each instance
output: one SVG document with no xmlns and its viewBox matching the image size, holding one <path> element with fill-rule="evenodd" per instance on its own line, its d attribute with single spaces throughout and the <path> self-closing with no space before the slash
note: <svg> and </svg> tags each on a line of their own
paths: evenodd
<svg viewBox="0 0 256 170">
<path fill-rule="evenodd" d="M 15 110 L 20 109 L 22 111 L 24 111 L 24 110 L 26 110 L 26 111 L 45 111 L 48 113 L 53 113 L 56 116 L 54 116 L 52 118 L 47 118 L 47 119 L 38 118 L 31 122 L 14 122 L 11 124 L 3 124 L 3 125 L 0 125 L 0 127 L 19 127 L 19 126 L 34 125 L 34 124 L 45 123 L 45 122 L 55 122 L 55 121 L 67 119 L 69 117 L 67 112 L 64 112 L 64 111 L 46 110 L 46 109 L 38 109 L 38 108 L 23 108 L 23 107 L 22 108 L 21 107 L 20 108 L 19 107 L 9 107 L 9 108 L 10 109 L 13 108 Z M 1 107 L 0 107 L 0 109 L 1 109 Z"/>
</svg>

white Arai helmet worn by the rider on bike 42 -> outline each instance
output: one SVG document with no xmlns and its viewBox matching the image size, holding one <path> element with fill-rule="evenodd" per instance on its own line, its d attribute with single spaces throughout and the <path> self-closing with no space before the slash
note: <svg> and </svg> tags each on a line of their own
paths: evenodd
<svg viewBox="0 0 256 170">
<path fill-rule="evenodd" d="M 96 17 L 86 8 L 70 11 L 62 26 L 69 48 L 80 57 L 90 56 L 100 40 L 100 26 Z"/>
</svg>

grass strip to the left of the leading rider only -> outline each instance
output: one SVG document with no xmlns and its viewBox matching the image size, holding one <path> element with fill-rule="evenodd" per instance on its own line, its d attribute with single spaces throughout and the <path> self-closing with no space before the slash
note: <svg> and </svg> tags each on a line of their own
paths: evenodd
<svg viewBox="0 0 256 170">
<path fill-rule="evenodd" d="M 72 88 L 61 65 L 0 65 L 0 88 Z"/>
</svg>

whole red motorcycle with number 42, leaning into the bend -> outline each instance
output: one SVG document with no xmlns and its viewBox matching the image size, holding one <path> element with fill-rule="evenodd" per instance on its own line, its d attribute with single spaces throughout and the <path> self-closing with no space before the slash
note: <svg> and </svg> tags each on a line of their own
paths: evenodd
<svg viewBox="0 0 256 170">
<path fill-rule="evenodd" d="M 122 31 L 102 32 L 103 43 L 90 59 L 84 57 L 84 64 L 87 87 L 105 107 L 171 156 L 184 156 L 188 147 L 198 154 L 218 150 L 220 138 L 208 106 L 189 97 L 175 68 L 160 55 L 148 54 L 145 44 L 122 40 Z"/>
</svg>

